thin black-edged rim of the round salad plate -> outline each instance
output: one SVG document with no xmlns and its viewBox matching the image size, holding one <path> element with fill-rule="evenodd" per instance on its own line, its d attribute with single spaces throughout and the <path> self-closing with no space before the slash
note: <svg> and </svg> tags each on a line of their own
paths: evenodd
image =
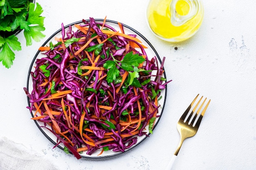
<svg viewBox="0 0 256 170">
<path fill-rule="evenodd" d="M 94 19 L 96 22 L 103 22 L 104 19 Z M 90 21 L 89 19 L 85 20 L 85 21 Z M 80 21 L 76 21 L 76 22 L 72 22 L 70 24 L 67 24 L 64 26 L 64 29 L 66 29 L 67 27 L 69 26 L 73 26 L 74 24 L 79 24 L 79 23 L 82 23 L 83 20 L 80 20 Z M 113 24 L 118 24 L 120 22 L 117 22 L 117 21 L 114 21 L 114 20 L 106 20 L 106 22 L 110 22 L 110 23 L 113 23 Z M 153 47 L 153 45 L 144 37 L 144 35 L 142 35 L 141 33 L 139 33 L 137 30 L 133 29 L 132 27 L 126 25 L 126 24 L 123 24 L 121 23 L 124 27 L 126 27 L 127 29 L 130 29 L 131 31 L 135 32 L 137 35 L 139 35 L 146 43 L 148 43 L 148 45 L 150 46 L 150 48 L 154 51 L 157 59 L 159 60 L 160 64 L 162 64 L 162 60 L 161 58 L 159 57 L 157 51 L 155 50 L 155 48 Z M 42 44 L 42 46 L 45 46 L 47 43 L 49 43 L 49 41 L 58 33 L 60 33 L 62 31 L 62 28 L 61 29 L 58 29 L 57 31 L 55 31 L 47 40 L 45 40 L 45 42 Z M 29 66 L 29 71 L 28 71 L 28 74 L 27 74 L 27 90 L 29 91 L 29 79 L 31 77 L 31 70 L 32 70 L 32 67 L 35 63 L 35 60 L 36 58 L 38 57 L 38 54 L 40 53 L 41 51 L 37 51 L 35 56 L 33 57 L 32 61 L 31 61 L 31 64 Z M 163 67 L 163 70 L 164 70 L 164 67 Z M 166 73 L 164 71 L 163 73 L 164 75 L 164 78 L 166 78 Z M 164 106 L 166 104 L 166 97 L 167 97 L 167 84 L 165 85 L 165 91 L 164 91 L 164 101 L 163 101 L 163 105 L 161 106 L 162 110 L 161 110 L 161 113 L 159 114 L 159 117 L 158 117 L 158 120 L 157 122 L 155 123 L 155 126 L 153 127 L 153 130 L 155 129 L 155 127 L 157 126 L 157 124 L 159 123 L 160 121 L 160 118 L 162 117 L 162 114 L 164 112 Z M 27 96 L 27 103 L 28 103 L 28 107 L 31 107 L 30 105 L 30 100 L 29 100 L 29 97 Z M 31 116 L 34 117 L 34 114 L 32 112 L 30 112 Z M 38 124 L 38 122 L 36 120 L 34 120 L 36 126 L 39 128 L 39 130 L 43 133 L 43 135 L 49 140 L 52 142 L 52 144 L 56 145 L 56 142 L 51 138 L 49 137 L 45 131 L 40 127 L 40 125 Z M 150 133 L 147 133 L 143 139 L 141 139 L 140 141 L 138 141 L 135 145 L 131 146 L 130 148 L 126 149 L 124 152 L 117 152 L 115 154 L 112 154 L 112 155 L 106 155 L 106 156 L 87 156 L 87 155 L 81 155 L 82 158 L 91 158 L 91 159 L 99 159 L 99 158 L 108 158 L 108 157 L 115 157 L 117 155 L 120 155 L 122 153 L 125 153 L 127 152 L 128 150 L 131 150 L 133 148 L 135 148 L 135 146 L 138 146 L 139 144 L 142 143 L 142 141 L 144 141 L 148 136 L 150 135 Z M 61 150 L 64 150 L 64 148 L 60 145 L 57 145 L 58 148 L 60 148 Z M 70 154 L 72 154 L 72 152 L 70 152 Z M 73 155 L 73 154 L 72 154 Z M 80 154 L 79 154 L 80 155 Z"/>
</svg>

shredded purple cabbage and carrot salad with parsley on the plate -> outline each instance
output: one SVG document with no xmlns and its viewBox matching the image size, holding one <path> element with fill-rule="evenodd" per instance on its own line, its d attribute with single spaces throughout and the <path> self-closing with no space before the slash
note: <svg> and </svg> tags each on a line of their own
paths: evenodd
<svg viewBox="0 0 256 170">
<path fill-rule="evenodd" d="M 124 152 L 137 137 L 153 133 L 158 100 L 166 88 L 164 60 L 148 59 L 136 35 L 94 18 L 65 29 L 56 43 L 41 46 L 31 71 L 33 89 L 24 88 L 33 113 L 57 138 L 56 146 L 79 153 Z M 74 29 L 74 28 L 73 28 Z"/>
</svg>

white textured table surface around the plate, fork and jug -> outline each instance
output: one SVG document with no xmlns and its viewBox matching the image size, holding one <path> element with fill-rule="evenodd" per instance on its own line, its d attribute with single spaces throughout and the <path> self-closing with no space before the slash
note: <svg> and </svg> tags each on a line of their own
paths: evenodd
<svg viewBox="0 0 256 170">
<path fill-rule="evenodd" d="M 163 170 L 180 140 L 176 124 L 200 93 L 211 103 L 198 133 L 184 141 L 173 170 L 256 169 L 256 4 L 254 0 L 203 0 L 204 21 L 185 42 L 156 38 L 145 20 L 148 0 L 36 0 L 43 7 L 46 37 L 25 45 L 9 69 L 0 66 L 0 137 L 44 155 L 60 170 Z M 117 157 L 77 160 L 55 148 L 37 128 L 23 91 L 38 47 L 64 25 L 104 18 L 143 34 L 166 57 L 168 93 L 153 135 Z M 175 50 L 174 47 L 178 49 Z M 0 63 L 2 65 L 2 63 Z"/>
</svg>

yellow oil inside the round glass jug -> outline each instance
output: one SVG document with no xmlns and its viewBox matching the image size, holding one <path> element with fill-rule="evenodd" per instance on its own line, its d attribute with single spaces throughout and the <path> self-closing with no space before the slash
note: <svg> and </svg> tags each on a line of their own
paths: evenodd
<svg viewBox="0 0 256 170">
<path fill-rule="evenodd" d="M 194 35 L 202 24 L 202 6 L 189 21 L 181 26 L 174 26 L 171 23 L 171 2 L 172 0 L 150 0 L 146 11 L 148 24 L 159 38 L 173 42 L 186 40 Z M 175 9 L 179 15 L 186 16 L 189 14 L 191 7 L 187 0 L 177 0 Z"/>
</svg>

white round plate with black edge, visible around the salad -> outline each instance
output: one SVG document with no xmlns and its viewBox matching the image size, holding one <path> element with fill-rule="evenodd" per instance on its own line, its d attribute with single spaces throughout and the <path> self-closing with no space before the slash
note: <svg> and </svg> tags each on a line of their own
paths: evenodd
<svg viewBox="0 0 256 170">
<path fill-rule="evenodd" d="M 103 22 L 102 19 L 95 19 L 96 22 Z M 76 27 L 74 26 L 74 24 L 80 24 L 82 23 L 82 21 L 79 22 L 74 22 L 72 24 L 69 24 L 67 26 L 65 26 L 65 29 L 67 30 L 69 26 L 72 26 L 72 31 L 76 31 Z M 112 20 L 106 20 L 106 24 L 112 26 L 114 29 L 116 29 L 117 31 L 119 31 L 119 25 L 116 21 L 112 21 Z M 153 46 L 150 44 L 150 42 L 148 42 L 148 40 L 141 35 L 138 31 L 136 31 L 135 29 L 132 29 L 130 26 L 127 26 L 125 24 L 123 24 L 124 26 L 124 33 L 125 34 L 135 34 L 137 35 L 137 38 L 139 38 L 139 40 L 141 40 L 142 44 L 144 44 L 145 46 L 147 46 L 148 48 L 145 49 L 146 54 L 148 56 L 148 59 L 150 60 L 152 57 L 156 56 L 158 63 L 161 64 L 162 61 L 159 57 L 159 55 L 157 54 L 157 52 L 155 51 L 155 49 L 153 48 Z M 62 29 L 59 29 L 58 31 L 56 31 L 48 40 L 46 40 L 46 42 L 42 45 L 42 46 L 49 46 L 49 42 L 53 42 L 57 43 L 56 40 L 54 40 L 55 37 L 62 37 L 61 35 L 61 31 Z M 45 57 L 45 55 L 42 55 L 40 51 L 38 51 L 33 59 L 33 61 L 31 62 L 31 66 L 29 68 L 29 73 L 28 73 L 28 77 L 27 77 L 27 89 L 29 90 L 29 93 L 31 93 L 32 91 L 32 80 L 31 80 L 31 71 L 34 71 L 34 66 L 36 66 L 35 64 L 35 60 L 37 58 L 41 58 L 41 57 Z M 163 77 L 166 78 L 166 75 L 164 73 Z M 159 100 L 159 104 L 161 105 L 161 107 L 159 107 L 158 109 L 158 116 L 156 121 L 155 121 L 155 126 L 156 127 L 157 123 L 159 122 L 159 119 L 163 113 L 163 109 L 164 109 L 164 104 L 166 101 L 166 93 L 167 93 L 167 86 L 165 89 L 162 90 L 161 95 L 162 95 L 162 99 Z M 30 102 L 29 102 L 29 98 L 27 98 L 28 101 L 28 106 L 30 107 Z M 34 113 L 31 113 L 31 116 L 34 117 Z M 49 130 L 47 130 L 46 128 L 41 128 L 40 126 L 44 126 L 42 122 L 40 121 L 35 121 L 36 125 L 38 126 L 38 128 L 41 130 L 41 132 L 45 135 L 45 137 L 47 137 L 47 139 L 49 139 L 49 141 L 51 141 L 53 144 L 56 144 L 56 137 L 55 135 L 52 134 L 52 132 L 49 132 Z M 148 132 L 148 126 L 146 127 L 146 130 L 144 130 L 146 132 L 147 135 L 150 135 L 150 133 Z M 140 136 L 137 138 L 137 143 L 135 145 L 133 145 L 132 147 L 128 148 L 127 150 L 130 150 L 131 148 L 134 148 L 135 146 L 137 146 L 138 144 L 140 144 L 144 139 L 146 139 L 147 135 L 144 136 Z M 59 148 L 61 148 L 63 150 L 64 145 L 60 144 L 58 145 Z M 125 151 L 127 151 L 125 150 Z M 86 155 L 86 152 L 81 153 L 81 157 L 91 157 L 91 158 L 102 158 L 102 157 L 110 157 L 110 156 L 114 156 L 114 155 L 119 155 L 123 152 L 113 152 L 112 150 L 108 150 L 108 151 L 104 151 L 101 155 L 99 155 L 99 153 L 101 152 L 100 150 L 97 150 L 96 152 L 94 152 L 92 155 Z M 99 156 L 97 156 L 99 155 Z"/>
</svg>

